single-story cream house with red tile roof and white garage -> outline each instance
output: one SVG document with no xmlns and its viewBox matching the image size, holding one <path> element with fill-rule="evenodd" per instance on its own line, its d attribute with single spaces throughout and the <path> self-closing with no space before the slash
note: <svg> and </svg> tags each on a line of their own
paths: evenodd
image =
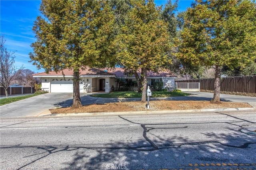
<svg viewBox="0 0 256 170">
<path fill-rule="evenodd" d="M 64 75 L 64 76 L 63 76 Z M 138 72 L 140 76 L 140 73 Z M 33 74 L 33 77 L 39 77 L 42 81 L 42 90 L 46 90 L 48 92 L 73 92 L 73 70 L 64 69 L 59 72 L 42 72 Z M 134 75 L 128 76 L 125 74 L 123 68 L 104 68 L 104 69 L 96 69 L 96 68 L 88 68 L 84 70 L 80 70 L 80 92 L 95 92 L 104 90 L 105 92 L 110 92 L 111 87 L 114 86 L 117 89 L 117 78 L 131 79 L 132 81 L 136 81 Z M 174 87 L 174 79 L 176 77 L 170 74 L 167 71 L 162 72 L 152 72 L 148 71 L 147 80 L 148 84 L 152 85 L 153 82 L 163 82 L 163 88 L 165 88 L 166 84 L 171 84 Z"/>
</svg>

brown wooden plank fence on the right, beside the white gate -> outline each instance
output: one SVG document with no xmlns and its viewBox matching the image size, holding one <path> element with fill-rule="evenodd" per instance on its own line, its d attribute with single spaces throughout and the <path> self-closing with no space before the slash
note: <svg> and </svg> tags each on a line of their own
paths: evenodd
<svg viewBox="0 0 256 170">
<path fill-rule="evenodd" d="M 214 90 L 215 78 L 195 79 L 195 80 L 177 80 L 175 82 L 200 82 L 200 90 Z M 256 93 L 256 75 L 255 76 L 234 76 L 221 78 L 220 91 Z"/>
</svg>

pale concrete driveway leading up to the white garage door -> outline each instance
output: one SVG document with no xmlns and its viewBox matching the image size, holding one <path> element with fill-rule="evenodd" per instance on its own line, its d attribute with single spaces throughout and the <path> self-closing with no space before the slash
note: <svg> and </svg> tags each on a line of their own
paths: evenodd
<svg viewBox="0 0 256 170">
<path fill-rule="evenodd" d="M 0 117 L 38 116 L 40 113 L 62 107 L 59 104 L 72 105 L 72 93 L 46 93 L 0 106 Z"/>
</svg>

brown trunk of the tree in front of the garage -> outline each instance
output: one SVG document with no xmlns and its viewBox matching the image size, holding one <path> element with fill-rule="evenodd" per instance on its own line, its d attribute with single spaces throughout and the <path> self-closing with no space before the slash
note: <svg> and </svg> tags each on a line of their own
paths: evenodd
<svg viewBox="0 0 256 170">
<path fill-rule="evenodd" d="M 80 86 L 79 86 L 79 71 L 74 70 L 74 79 L 73 79 L 73 106 L 72 107 L 81 107 L 81 98 L 80 98 Z"/>
</svg>

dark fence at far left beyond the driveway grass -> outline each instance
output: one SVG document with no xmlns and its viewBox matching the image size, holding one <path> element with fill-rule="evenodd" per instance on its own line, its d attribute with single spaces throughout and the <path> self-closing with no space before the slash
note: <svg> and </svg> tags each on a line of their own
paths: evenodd
<svg viewBox="0 0 256 170">
<path fill-rule="evenodd" d="M 28 94 L 28 93 L 34 93 L 35 88 L 34 87 L 8 87 L 8 95 L 13 94 Z M 0 95 L 5 95 L 5 91 L 3 87 L 0 87 Z"/>
</svg>

